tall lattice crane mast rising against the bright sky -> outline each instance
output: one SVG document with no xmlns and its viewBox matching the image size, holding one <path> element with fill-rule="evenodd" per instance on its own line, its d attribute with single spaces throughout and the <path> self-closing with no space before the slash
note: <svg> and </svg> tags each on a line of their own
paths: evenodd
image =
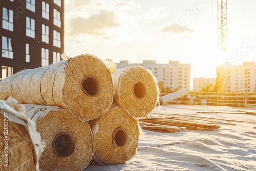
<svg viewBox="0 0 256 171">
<path fill-rule="evenodd" d="M 227 0 L 217 0 L 218 49 L 227 50 Z"/>
</svg>

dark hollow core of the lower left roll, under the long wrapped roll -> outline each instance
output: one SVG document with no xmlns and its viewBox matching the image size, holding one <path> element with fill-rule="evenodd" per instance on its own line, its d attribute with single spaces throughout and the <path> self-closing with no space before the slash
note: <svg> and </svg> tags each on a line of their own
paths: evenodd
<svg viewBox="0 0 256 171">
<path fill-rule="evenodd" d="M 75 151 L 76 142 L 73 135 L 62 132 L 55 136 L 52 141 L 54 153 L 59 157 L 68 157 Z"/>
</svg>

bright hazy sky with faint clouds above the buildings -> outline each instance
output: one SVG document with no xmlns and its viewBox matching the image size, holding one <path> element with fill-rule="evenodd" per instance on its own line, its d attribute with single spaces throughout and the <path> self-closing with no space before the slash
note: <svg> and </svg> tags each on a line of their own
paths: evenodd
<svg viewBox="0 0 256 171">
<path fill-rule="evenodd" d="M 228 51 L 217 50 L 217 0 L 65 0 L 65 53 L 113 62 L 179 60 L 191 79 L 254 60 L 256 1 L 228 1 Z M 233 54 L 233 55 L 232 55 Z"/>
</svg>

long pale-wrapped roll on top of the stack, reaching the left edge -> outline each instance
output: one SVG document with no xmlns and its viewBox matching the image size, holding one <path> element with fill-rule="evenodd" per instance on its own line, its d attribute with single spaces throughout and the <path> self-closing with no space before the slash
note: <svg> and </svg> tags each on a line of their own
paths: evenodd
<svg viewBox="0 0 256 171">
<path fill-rule="evenodd" d="M 0 81 L 0 92 L 0 100 L 12 96 L 24 104 L 59 106 L 82 120 L 103 115 L 114 96 L 110 70 L 89 54 L 20 71 Z"/>
</svg>

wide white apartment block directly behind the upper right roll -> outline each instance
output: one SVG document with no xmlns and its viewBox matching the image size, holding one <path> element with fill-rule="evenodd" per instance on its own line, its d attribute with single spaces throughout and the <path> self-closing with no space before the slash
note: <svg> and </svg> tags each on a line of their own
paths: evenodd
<svg viewBox="0 0 256 171">
<path fill-rule="evenodd" d="M 168 64 L 156 63 L 155 60 L 144 60 L 143 63 L 129 63 L 127 60 L 122 60 L 116 64 L 117 68 L 141 66 L 150 69 L 158 83 L 162 81 L 165 88 L 190 90 L 190 64 L 181 64 L 172 60 Z"/>
</svg>

